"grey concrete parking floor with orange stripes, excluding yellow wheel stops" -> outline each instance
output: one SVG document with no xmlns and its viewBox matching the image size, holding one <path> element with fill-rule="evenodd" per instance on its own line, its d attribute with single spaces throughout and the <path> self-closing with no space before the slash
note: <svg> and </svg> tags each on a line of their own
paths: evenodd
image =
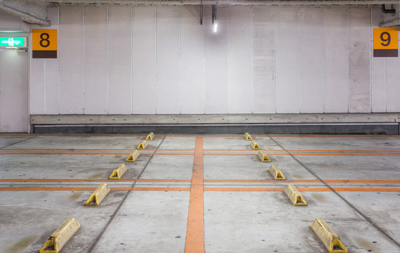
<svg viewBox="0 0 400 253">
<path fill-rule="evenodd" d="M 349 252 L 400 252 L 399 136 L 253 136 L 267 163 L 243 136 L 156 135 L 108 180 L 144 138 L 0 134 L 0 252 L 39 252 L 69 217 L 64 253 L 327 252 L 316 218 Z M 112 191 L 85 207 L 100 183 Z"/>
</svg>

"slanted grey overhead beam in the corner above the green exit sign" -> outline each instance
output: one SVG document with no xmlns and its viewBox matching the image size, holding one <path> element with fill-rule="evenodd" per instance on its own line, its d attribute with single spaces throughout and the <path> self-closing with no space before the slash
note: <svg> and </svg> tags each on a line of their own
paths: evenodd
<svg viewBox="0 0 400 253">
<path fill-rule="evenodd" d="M 47 4 L 44 2 L 0 0 L 0 11 L 18 16 L 31 24 L 50 25 L 47 20 Z"/>
</svg>

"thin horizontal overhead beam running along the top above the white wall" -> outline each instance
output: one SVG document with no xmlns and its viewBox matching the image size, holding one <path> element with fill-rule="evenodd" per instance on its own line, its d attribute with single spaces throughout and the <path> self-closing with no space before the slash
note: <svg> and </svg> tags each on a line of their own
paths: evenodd
<svg viewBox="0 0 400 253">
<path fill-rule="evenodd" d="M 164 6 L 177 6 L 177 5 L 213 5 L 216 0 L 179 0 L 179 1 L 166 1 L 166 0 L 28 0 L 28 1 L 41 1 L 51 4 L 60 5 L 135 5 L 135 6 L 149 6 L 149 5 L 164 5 Z M 218 0 L 218 6 L 333 6 L 333 5 L 376 5 L 376 4 L 399 4 L 399 0 Z"/>
</svg>

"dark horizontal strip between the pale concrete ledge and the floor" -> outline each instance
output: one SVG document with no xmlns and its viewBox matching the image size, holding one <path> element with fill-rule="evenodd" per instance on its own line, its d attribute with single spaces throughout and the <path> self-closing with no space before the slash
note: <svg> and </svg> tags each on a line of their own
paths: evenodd
<svg viewBox="0 0 400 253">
<path fill-rule="evenodd" d="M 399 123 L 386 124 L 127 124 L 31 125 L 34 134 L 385 134 L 399 135 Z"/>
</svg>

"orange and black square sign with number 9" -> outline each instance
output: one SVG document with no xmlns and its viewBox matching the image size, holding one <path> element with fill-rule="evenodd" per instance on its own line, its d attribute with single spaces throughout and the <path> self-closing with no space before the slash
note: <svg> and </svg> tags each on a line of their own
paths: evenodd
<svg viewBox="0 0 400 253">
<path fill-rule="evenodd" d="M 399 56 L 399 30 L 397 28 L 373 29 L 373 57 Z"/>
</svg>

